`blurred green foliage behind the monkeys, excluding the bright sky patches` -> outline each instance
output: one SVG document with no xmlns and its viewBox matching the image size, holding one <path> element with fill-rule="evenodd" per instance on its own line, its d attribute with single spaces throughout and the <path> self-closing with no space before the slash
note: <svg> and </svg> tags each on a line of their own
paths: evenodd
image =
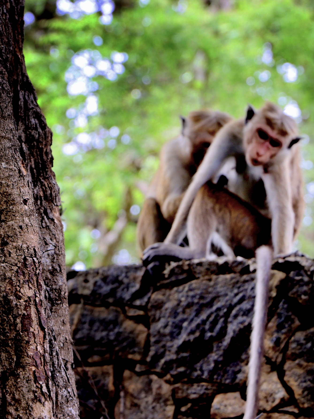
<svg viewBox="0 0 314 419">
<path fill-rule="evenodd" d="M 40 9 L 42 4 L 28 0 L 26 10 Z M 54 132 L 54 171 L 67 224 L 67 264 L 78 259 L 87 266 L 98 263 L 99 255 L 91 252 L 95 240 L 90 231 L 113 226 L 128 187 L 132 203 L 142 204 L 138 182 L 151 180 L 160 147 L 179 132 L 180 114 L 212 107 L 240 117 L 247 103 L 260 107 L 264 100 L 277 102 L 281 96 L 297 101 L 304 115 L 313 114 L 314 23 L 310 4 L 239 0 L 233 10 L 213 13 L 200 0 L 190 0 L 182 14 L 172 5 L 169 0 L 153 0 L 144 8 L 135 5 L 114 15 L 109 26 L 101 25 L 95 13 L 80 20 L 68 16 L 41 19 L 26 28 L 28 75 Z M 100 47 L 93 44 L 96 35 L 103 39 Z M 272 45 L 273 67 L 260 60 L 266 42 Z M 72 55 L 84 49 L 97 49 L 108 58 L 113 51 L 126 52 L 129 59 L 126 71 L 116 81 L 94 78 L 99 85 L 95 92 L 99 114 L 90 116 L 83 129 L 75 128 L 65 115 L 67 109 L 84 103 L 85 96 L 68 95 L 64 73 Z M 276 65 L 284 62 L 304 67 L 304 74 L 296 82 L 286 83 L 276 71 Z M 264 70 L 270 71 L 271 77 L 260 83 L 256 72 Z M 252 76 L 255 85 L 249 86 L 246 80 Z M 149 79 L 149 84 L 143 82 Z M 256 93 L 260 87 L 265 90 L 263 96 Z M 141 93 L 137 99 L 134 89 Z M 75 156 L 62 153 L 62 146 L 79 132 L 112 126 L 120 129 L 113 150 L 106 146 Z M 300 124 L 304 133 L 310 134 L 312 127 L 311 117 Z M 131 136 L 128 145 L 120 141 L 124 133 Z M 314 158 L 312 141 L 304 153 L 306 160 Z M 314 170 L 307 170 L 305 178 L 306 183 L 311 181 Z M 310 212 L 311 204 L 308 216 Z M 314 229 L 307 227 L 300 238 L 302 250 L 311 256 L 313 234 Z M 129 222 L 119 248 L 137 255 L 134 221 Z"/>
</svg>

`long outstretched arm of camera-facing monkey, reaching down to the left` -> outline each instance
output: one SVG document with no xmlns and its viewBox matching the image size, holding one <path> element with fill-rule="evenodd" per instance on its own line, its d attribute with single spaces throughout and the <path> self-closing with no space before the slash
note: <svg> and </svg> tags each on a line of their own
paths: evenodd
<svg viewBox="0 0 314 419">
<path fill-rule="evenodd" d="M 185 224 L 188 213 L 198 189 L 215 176 L 227 157 L 233 156 L 236 153 L 244 153 L 242 137 L 240 135 L 242 129 L 242 120 L 232 121 L 221 128 L 216 134 L 184 194 L 171 230 L 165 239 L 165 243 L 179 244 L 182 241 L 185 235 Z"/>
</svg>

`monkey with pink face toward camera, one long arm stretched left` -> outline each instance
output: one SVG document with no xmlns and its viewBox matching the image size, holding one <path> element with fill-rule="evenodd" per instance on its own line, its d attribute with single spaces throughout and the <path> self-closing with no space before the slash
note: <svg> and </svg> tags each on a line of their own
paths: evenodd
<svg viewBox="0 0 314 419">
<path fill-rule="evenodd" d="M 271 218 L 275 254 L 290 252 L 304 210 L 300 151 L 294 145 L 299 139 L 294 120 L 270 102 L 256 112 L 249 106 L 245 119 L 221 128 L 185 192 L 165 243 L 159 245 L 160 254 L 166 254 L 166 243 L 180 243 L 198 190 L 230 156 L 237 160 L 237 176 L 228 188 Z M 260 199 L 262 192 L 265 200 Z M 156 246 L 153 251 L 157 254 Z"/>
</svg>

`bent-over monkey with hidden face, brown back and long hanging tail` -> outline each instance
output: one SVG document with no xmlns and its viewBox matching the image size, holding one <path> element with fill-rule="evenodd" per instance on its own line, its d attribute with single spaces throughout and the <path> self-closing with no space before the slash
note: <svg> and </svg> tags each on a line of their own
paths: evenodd
<svg viewBox="0 0 314 419">
<path fill-rule="evenodd" d="M 255 305 L 244 416 L 244 419 L 255 419 L 268 311 L 268 284 L 273 259 L 271 220 L 223 188 L 226 182 L 227 178 L 223 175 L 217 184 L 208 181 L 197 192 L 187 221 L 189 247 L 167 243 L 162 250 L 167 256 L 172 255 L 179 259 L 214 259 L 216 255 L 212 252 L 213 245 L 216 250 L 221 249 L 222 253 L 231 258 L 243 256 L 249 259 L 256 253 Z M 145 266 L 153 261 L 154 256 L 160 257 L 158 243 L 156 246 L 156 254 L 154 245 L 147 252 L 144 251 Z"/>
</svg>

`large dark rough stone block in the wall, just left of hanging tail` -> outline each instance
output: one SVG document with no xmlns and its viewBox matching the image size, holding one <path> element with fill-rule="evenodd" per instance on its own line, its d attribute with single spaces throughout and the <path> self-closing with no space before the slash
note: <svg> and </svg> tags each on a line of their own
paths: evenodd
<svg viewBox="0 0 314 419">
<path fill-rule="evenodd" d="M 180 380 L 243 383 L 254 305 L 253 275 L 198 279 L 152 294 L 149 303 L 152 370 Z M 237 365 L 237 366 L 235 366 Z"/>
</svg>

